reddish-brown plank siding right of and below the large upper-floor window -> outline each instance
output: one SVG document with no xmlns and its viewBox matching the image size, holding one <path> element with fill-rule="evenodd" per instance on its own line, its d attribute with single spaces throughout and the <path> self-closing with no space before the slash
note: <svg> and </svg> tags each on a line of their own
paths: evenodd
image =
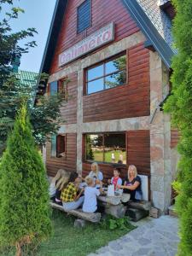
<svg viewBox="0 0 192 256">
<path fill-rule="evenodd" d="M 150 114 L 149 51 L 142 44 L 127 50 L 125 85 L 83 97 L 84 122 Z"/>
</svg>

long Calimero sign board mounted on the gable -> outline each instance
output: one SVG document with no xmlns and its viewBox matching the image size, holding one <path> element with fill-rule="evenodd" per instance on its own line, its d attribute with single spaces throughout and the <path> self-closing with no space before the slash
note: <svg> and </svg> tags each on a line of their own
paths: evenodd
<svg viewBox="0 0 192 256">
<path fill-rule="evenodd" d="M 108 42 L 113 41 L 113 39 L 114 27 L 113 23 L 110 23 L 108 26 L 102 27 L 89 37 L 84 38 L 84 40 L 80 41 L 78 44 L 75 44 L 71 48 L 62 52 L 61 55 L 59 55 L 59 67 L 87 54 L 91 50 L 96 49 L 103 44 L 108 44 Z"/>
</svg>

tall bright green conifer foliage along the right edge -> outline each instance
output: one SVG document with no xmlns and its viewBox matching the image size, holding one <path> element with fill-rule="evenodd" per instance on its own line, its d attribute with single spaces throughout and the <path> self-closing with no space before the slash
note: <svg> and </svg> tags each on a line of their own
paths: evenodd
<svg viewBox="0 0 192 256">
<path fill-rule="evenodd" d="M 178 54 L 172 61 L 172 96 L 165 110 L 172 113 L 172 123 L 182 138 L 177 146 L 181 160 L 176 207 L 180 218 L 181 242 L 178 254 L 192 255 L 192 2 L 172 0 L 177 15 L 173 35 Z"/>
</svg>

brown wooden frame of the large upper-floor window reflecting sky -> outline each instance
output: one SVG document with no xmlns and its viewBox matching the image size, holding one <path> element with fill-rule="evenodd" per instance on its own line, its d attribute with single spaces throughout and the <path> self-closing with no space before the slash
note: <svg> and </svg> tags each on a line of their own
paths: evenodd
<svg viewBox="0 0 192 256">
<path fill-rule="evenodd" d="M 125 65 L 125 68 L 120 69 L 120 70 L 118 70 L 118 71 L 115 71 L 115 72 L 113 72 L 113 73 L 108 73 L 108 74 L 106 74 L 106 63 L 108 63 L 109 61 L 113 61 L 113 60 L 115 60 L 115 59 L 118 59 L 119 57 L 121 57 L 121 56 L 123 56 L 123 55 L 125 55 L 125 58 L 126 58 L 126 65 Z M 90 96 L 90 95 L 93 95 L 93 94 L 95 94 L 95 93 L 99 93 L 99 92 L 102 92 L 102 91 L 105 91 L 105 90 L 111 90 L 111 89 L 114 89 L 114 88 L 116 88 L 116 87 L 118 87 L 118 86 L 125 86 L 126 84 L 128 84 L 128 75 L 127 75 L 127 73 L 128 73 L 128 63 L 127 63 L 127 61 L 128 61 L 128 60 L 127 60 L 127 59 L 128 59 L 128 58 L 127 58 L 127 50 L 124 50 L 124 51 L 120 52 L 119 54 L 113 55 L 113 56 L 109 57 L 108 59 L 106 59 L 106 60 L 104 60 L 104 61 L 97 62 L 96 64 L 91 65 L 90 67 L 84 68 L 84 96 Z M 101 66 L 102 64 L 104 65 L 104 67 L 103 67 L 104 75 L 103 75 L 103 76 L 96 77 L 95 79 L 90 79 L 90 80 L 88 81 L 88 71 L 89 71 L 90 69 L 94 68 L 94 67 Z M 98 91 L 95 91 L 95 92 L 92 92 L 92 93 L 89 93 L 89 94 L 88 94 L 88 83 L 103 78 L 103 79 L 104 79 L 104 83 L 103 83 L 103 84 L 104 84 L 104 87 L 105 87 L 106 77 L 108 77 L 108 76 L 110 76 L 110 75 L 112 75 L 112 74 L 115 74 L 115 73 L 122 72 L 122 71 L 125 71 L 125 74 L 126 74 L 126 79 L 125 79 L 125 83 L 124 83 L 124 84 L 116 85 L 116 86 L 114 86 L 114 87 L 112 87 L 112 88 L 107 88 L 107 89 L 104 88 L 103 90 L 98 90 Z"/>
</svg>

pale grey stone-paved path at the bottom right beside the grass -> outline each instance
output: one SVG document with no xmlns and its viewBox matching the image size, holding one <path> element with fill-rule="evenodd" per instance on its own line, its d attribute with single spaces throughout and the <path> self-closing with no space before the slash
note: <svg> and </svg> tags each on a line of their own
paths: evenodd
<svg viewBox="0 0 192 256">
<path fill-rule="evenodd" d="M 177 218 L 148 218 L 136 230 L 110 241 L 89 256 L 175 256 L 177 254 Z"/>
</svg>

